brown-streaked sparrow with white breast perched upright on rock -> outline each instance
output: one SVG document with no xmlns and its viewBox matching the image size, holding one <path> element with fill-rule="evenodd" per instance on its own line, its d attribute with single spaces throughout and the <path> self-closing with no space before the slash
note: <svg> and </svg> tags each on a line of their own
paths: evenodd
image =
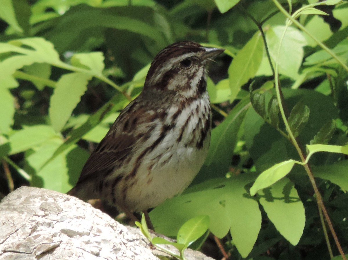
<svg viewBox="0 0 348 260">
<path fill-rule="evenodd" d="M 184 41 L 160 51 L 141 94 L 122 110 L 68 194 L 132 212 L 181 193 L 200 170 L 211 136 L 205 65 L 223 49 Z"/>
</svg>

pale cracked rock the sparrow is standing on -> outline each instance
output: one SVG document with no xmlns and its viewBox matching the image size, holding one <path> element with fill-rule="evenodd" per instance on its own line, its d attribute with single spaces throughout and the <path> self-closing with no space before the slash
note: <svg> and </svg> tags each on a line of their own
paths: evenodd
<svg viewBox="0 0 348 260">
<path fill-rule="evenodd" d="M 173 249 L 171 249 L 174 251 Z M 212 260 L 186 250 L 188 260 Z M 0 202 L 0 259 L 175 259 L 137 228 L 55 191 L 21 187 Z"/>
</svg>

